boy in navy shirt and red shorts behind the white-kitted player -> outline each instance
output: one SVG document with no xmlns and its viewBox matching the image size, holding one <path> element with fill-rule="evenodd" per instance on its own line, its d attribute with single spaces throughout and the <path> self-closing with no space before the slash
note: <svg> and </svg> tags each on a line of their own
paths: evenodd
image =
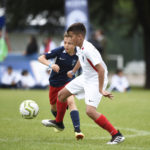
<svg viewBox="0 0 150 150">
<path fill-rule="evenodd" d="M 48 59 L 56 58 L 55 64 L 50 64 Z M 73 78 L 67 76 L 67 72 L 72 70 L 78 61 L 78 56 L 76 55 L 76 49 L 73 45 L 71 36 L 67 33 L 64 35 L 64 47 L 59 47 L 52 50 L 50 53 L 42 55 L 38 59 L 41 63 L 49 66 L 52 69 L 49 81 L 49 100 L 51 105 L 51 112 L 56 117 L 58 108 L 56 109 L 56 101 L 58 92 Z M 70 116 L 73 122 L 75 137 L 77 140 L 83 139 L 84 134 L 80 130 L 80 119 L 79 112 L 75 105 L 74 96 L 71 95 L 67 98 L 67 105 L 70 109 Z M 66 108 L 65 108 L 66 109 Z M 49 126 L 49 120 L 42 120 L 44 126 Z"/>
</svg>

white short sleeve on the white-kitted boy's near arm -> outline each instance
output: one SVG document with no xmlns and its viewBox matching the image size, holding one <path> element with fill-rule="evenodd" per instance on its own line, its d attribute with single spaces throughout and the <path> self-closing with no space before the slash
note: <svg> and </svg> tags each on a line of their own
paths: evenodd
<svg viewBox="0 0 150 150">
<path fill-rule="evenodd" d="M 94 46 L 88 47 L 85 55 L 94 66 L 102 62 L 102 57 Z"/>
</svg>

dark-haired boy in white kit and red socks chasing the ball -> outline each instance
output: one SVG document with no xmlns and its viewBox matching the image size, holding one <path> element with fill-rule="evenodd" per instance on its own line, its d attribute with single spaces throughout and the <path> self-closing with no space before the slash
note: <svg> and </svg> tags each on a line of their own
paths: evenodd
<svg viewBox="0 0 150 150">
<path fill-rule="evenodd" d="M 67 106 L 66 98 L 72 94 L 79 95 L 84 92 L 86 114 L 110 133 L 112 139 L 107 144 L 118 144 L 124 141 L 124 136 L 114 128 L 103 114 L 96 111 L 102 96 L 113 97 L 111 93 L 105 90 L 108 81 L 107 67 L 97 49 L 85 40 L 86 29 L 82 23 L 72 24 L 67 33 L 72 37 L 74 44 L 78 46 L 77 53 L 83 73 L 58 93 L 57 107 L 59 111 L 57 111 L 56 120 L 49 121 L 50 126 L 63 129 L 63 117 Z M 75 71 L 74 68 L 72 72 L 75 73 Z"/>
</svg>

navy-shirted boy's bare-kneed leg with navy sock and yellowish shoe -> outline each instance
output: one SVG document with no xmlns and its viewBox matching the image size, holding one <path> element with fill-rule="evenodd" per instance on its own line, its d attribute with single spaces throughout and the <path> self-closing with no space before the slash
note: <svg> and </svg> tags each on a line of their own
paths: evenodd
<svg viewBox="0 0 150 150">
<path fill-rule="evenodd" d="M 80 130 L 80 117 L 79 117 L 79 111 L 76 107 L 74 96 L 70 96 L 67 98 L 68 102 L 68 107 L 70 110 L 70 117 L 74 126 L 74 132 L 75 132 L 75 137 L 77 140 L 83 139 L 84 134 Z"/>
</svg>

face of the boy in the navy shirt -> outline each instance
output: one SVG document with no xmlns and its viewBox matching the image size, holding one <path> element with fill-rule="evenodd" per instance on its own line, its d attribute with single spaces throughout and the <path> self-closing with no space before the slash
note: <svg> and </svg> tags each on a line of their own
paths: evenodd
<svg viewBox="0 0 150 150">
<path fill-rule="evenodd" d="M 65 50 L 67 53 L 74 51 L 75 46 L 73 44 L 73 40 L 71 37 L 65 37 L 64 38 L 64 47 L 65 47 Z"/>
</svg>

